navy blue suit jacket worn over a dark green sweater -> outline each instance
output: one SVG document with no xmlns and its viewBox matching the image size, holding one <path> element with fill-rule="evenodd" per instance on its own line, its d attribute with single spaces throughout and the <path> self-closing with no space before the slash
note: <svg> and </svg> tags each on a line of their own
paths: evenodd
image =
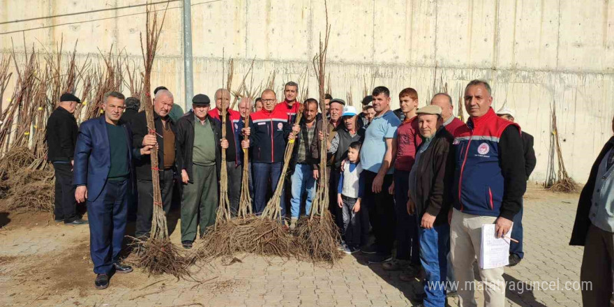
<svg viewBox="0 0 614 307">
<path fill-rule="evenodd" d="M 87 200 L 94 202 L 100 196 L 111 169 L 111 149 L 105 116 L 84 121 L 77 134 L 77 145 L 73 165 L 73 184 L 87 186 Z M 132 147 L 132 133 L 125 124 L 121 125 L 126 133 L 128 146 L 128 170 L 132 170 L 132 158 L 140 158 L 140 149 Z M 130 182 L 133 182 L 130 172 Z"/>
</svg>

